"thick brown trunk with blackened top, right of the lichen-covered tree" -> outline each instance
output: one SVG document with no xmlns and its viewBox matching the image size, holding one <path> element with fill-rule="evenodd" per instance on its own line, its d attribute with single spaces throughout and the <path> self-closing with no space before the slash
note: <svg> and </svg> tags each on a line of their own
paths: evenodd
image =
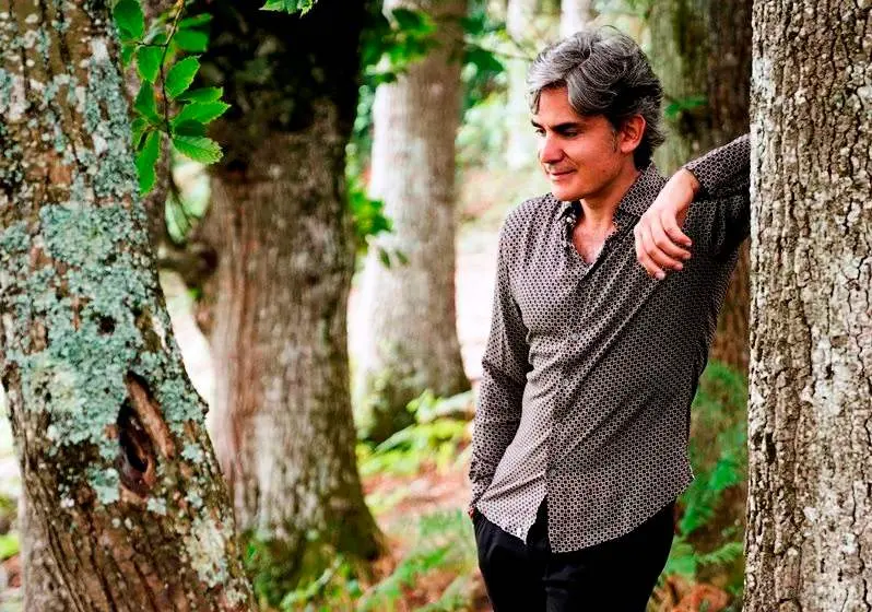
<svg viewBox="0 0 872 612">
<path fill-rule="evenodd" d="M 213 439 L 275 599 L 379 532 L 355 458 L 346 332 L 354 270 L 344 160 L 364 5 L 304 16 L 222 2 L 203 71 L 234 105 L 215 127 L 210 234 L 221 237 Z M 257 78 L 252 78 L 252 70 Z M 313 536 L 317 533 L 317 538 Z M 259 572 L 260 568 L 255 568 Z"/>
</svg>

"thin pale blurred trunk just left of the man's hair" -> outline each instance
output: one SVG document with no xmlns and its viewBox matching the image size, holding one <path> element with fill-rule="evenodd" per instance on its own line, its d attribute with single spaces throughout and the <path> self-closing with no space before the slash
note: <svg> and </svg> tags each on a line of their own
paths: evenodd
<svg viewBox="0 0 872 612">
<path fill-rule="evenodd" d="M 508 102 L 506 103 L 506 163 L 518 169 L 535 165 L 538 143 L 535 132 L 530 127 L 530 104 L 527 95 L 527 70 L 530 61 L 522 56 L 535 57 L 542 42 L 537 39 L 537 0 L 508 0 L 506 32 L 521 50 L 512 49 L 512 57 L 504 63 L 508 79 Z"/>
</svg>

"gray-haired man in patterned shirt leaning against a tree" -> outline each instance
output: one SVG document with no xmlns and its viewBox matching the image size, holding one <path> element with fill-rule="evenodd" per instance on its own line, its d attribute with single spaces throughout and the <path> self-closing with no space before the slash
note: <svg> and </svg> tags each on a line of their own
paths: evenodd
<svg viewBox="0 0 872 612">
<path fill-rule="evenodd" d="M 497 612 L 641 612 L 749 233 L 747 138 L 667 183 L 660 83 L 620 33 L 545 49 L 529 83 L 552 192 L 499 238 L 470 469 L 480 566 Z"/>
</svg>

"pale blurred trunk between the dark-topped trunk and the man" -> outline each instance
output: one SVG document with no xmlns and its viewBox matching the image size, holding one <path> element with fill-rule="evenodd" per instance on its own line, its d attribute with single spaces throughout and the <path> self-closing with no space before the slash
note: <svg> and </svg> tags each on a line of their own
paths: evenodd
<svg viewBox="0 0 872 612">
<path fill-rule="evenodd" d="M 425 390 L 444 397 L 470 387 L 455 309 L 455 138 L 467 2 L 385 2 L 386 11 L 409 8 L 431 16 L 437 46 L 379 85 L 373 109 L 370 193 L 393 225 L 372 240 L 362 284 L 367 323 L 355 399 L 362 433 L 375 440 L 409 425 L 406 404 Z"/>
</svg>

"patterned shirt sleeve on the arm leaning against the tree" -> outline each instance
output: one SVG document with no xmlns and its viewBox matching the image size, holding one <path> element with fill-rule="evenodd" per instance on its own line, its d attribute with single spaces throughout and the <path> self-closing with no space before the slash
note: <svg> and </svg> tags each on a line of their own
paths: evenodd
<svg viewBox="0 0 872 612">
<path fill-rule="evenodd" d="M 730 251 L 751 232 L 751 143 L 741 136 L 683 166 L 699 181 L 691 205 L 694 221 L 711 255 Z M 698 242 L 694 237 L 694 242 Z"/>
</svg>

